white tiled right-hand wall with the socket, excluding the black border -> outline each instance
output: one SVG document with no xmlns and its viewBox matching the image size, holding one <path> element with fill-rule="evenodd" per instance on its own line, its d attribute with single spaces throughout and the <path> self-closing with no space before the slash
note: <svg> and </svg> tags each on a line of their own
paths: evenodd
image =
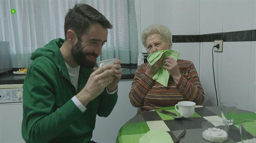
<svg viewBox="0 0 256 143">
<path fill-rule="evenodd" d="M 201 0 L 200 34 L 256 29 L 255 7 L 255 0 Z M 213 42 L 203 42 L 200 45 L 200 78 L 206 92 L 206 105 L 216 104 L 210 58 L 213 44 Z M 256 112 L 255 48 L 254 38 L 254 41 L 224 42 L 223 53 L 214 53 L 217 93 L 220 101 L 234 101 L 238 103 L 240 109 L 254 112 Z"/>
</svg>

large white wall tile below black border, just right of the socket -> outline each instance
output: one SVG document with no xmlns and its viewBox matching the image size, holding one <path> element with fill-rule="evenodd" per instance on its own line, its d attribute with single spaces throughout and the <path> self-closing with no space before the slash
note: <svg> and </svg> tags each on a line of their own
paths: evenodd
<svg viewBox="0 0 256 143">
<path fill-rule="evenodd" d="M 221 101 L 247 110 L 251 42 L 224 42 L 223 47 Z"/>
</svg>

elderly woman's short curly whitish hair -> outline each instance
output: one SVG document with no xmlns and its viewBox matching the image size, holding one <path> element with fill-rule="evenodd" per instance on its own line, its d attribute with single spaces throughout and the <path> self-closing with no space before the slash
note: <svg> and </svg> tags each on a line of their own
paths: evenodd
<svg viewBox="0 0 256 143">
<path fill-rule="evenodd" d="M 141 41 L 143 46 L 146 48 L 146 38 L 151 34 L 159 34 L 166 43 L 171 43 L 172 47 L 172 33 L 166 26 L 161 24 L 152 24 L 151 26 L 144 29 L 141 34 Z"/>
</svg>

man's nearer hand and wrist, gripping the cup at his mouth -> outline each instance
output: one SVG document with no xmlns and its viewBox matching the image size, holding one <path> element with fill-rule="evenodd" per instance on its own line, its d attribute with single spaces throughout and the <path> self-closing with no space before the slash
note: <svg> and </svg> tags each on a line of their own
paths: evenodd
<svg viewBox="0 0 256 143">
<path fill-rule="evenodd" d="M 94 72 L 91 73 L 84 89 L 76 94 L 78 100 L 86 106 L 91 100 L 99 96 L 108 84 L 114 81 L 116 78 L 112 76 L 114 73 L 116 70 L 112 66 L 94 67 Z"/>
</svg>

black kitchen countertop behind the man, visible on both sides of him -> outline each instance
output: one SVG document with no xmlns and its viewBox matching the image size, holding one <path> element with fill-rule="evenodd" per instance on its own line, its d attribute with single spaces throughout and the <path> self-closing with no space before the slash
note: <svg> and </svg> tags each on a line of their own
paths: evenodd
<svg viewBox="0 0 256 143">
<path fill-rule="evenodd" d="M 137 66 L 122 66 L 123 74 L 121 79 L 133 79 Z M 26 74 L 13 74 L 10 71 L 0 75 L 0 84 L 23 84 Z"/>
</svg>

